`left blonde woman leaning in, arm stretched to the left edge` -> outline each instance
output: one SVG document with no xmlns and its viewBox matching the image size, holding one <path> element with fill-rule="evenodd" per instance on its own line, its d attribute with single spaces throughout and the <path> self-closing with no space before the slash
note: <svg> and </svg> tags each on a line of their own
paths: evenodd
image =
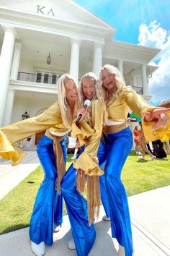
<svg viewBox="0 0 170 256">
<path fill-rule="evenodd" d="M 14 147 L 14 143 L 47 129 L 37 144 L 37 155 L 45 176 L 37 192 L 30 220 L 31 247 L 37 256 L 45 254 L 45 244 L 53 244 L 53 229 L 63 221 L 60 181 L 66 171 L 64 136 L 71 130 L 72 121 L 76 116 L 77 101 L 76 82 L 68 74 L 63 74 L 58 80 L 58 102 L 40 116 L 0 129 L 0 155 L 5 159 L 10 158 L 14 165 L 17 165 L 24 156 L 22 150 Z M 55 187 L 58 191 L 55 191 Z"/>
</svg>

